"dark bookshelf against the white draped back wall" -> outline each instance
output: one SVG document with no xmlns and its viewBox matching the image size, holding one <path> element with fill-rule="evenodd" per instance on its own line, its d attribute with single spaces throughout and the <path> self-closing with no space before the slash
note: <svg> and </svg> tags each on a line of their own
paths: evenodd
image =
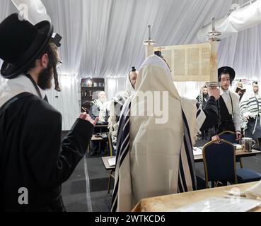
<svg viewBox="0 0 261 226">
<path fill-rule="evenodd" d="M 98 98 L 98 93 L 105 90 L 104 78 L 83 78 L 81 80 L 81 111 L 88 110 L 91 102 Z"/>
</svg>

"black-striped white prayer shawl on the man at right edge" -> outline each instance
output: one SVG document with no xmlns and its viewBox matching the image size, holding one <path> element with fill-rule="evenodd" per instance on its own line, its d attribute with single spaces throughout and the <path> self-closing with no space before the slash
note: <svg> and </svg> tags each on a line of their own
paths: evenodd
<svg viewBox="0 0 261 226">
<path fill-rule="evenodd" d="M 251 131 L 254 134 L 257 126 L 258 115 L 261 116 L 261 96 L 255 95 L 253 89 L 243 95 L 240 102 L 240 113 L 243 118 L 243 131 L 248 128 L 248 119 L 246 119 L 246 117 L 255 119 L 255 126 L 253 127 L 253 131 Z"/>
</svg>

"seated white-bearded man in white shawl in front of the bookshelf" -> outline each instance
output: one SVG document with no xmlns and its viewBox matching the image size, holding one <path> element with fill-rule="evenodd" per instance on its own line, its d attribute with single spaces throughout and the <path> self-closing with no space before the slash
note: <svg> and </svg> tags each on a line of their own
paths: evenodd
<svg viewBox="0 0 261 226">
<path fill-rule="evenodd" d="M 108 125 L 109 111 L 107 95 L 104 91 L 98 93 L 98 99 L 91 102 L 91 108 L 89 109 L 89 114 L 92 119 L 99 117 L 98 125 Z M 95 133 L 107 132 L 107 127 L 96 127 L 94 129 Z M 100 148 L 99 148 L 100 144 Z M 105 149 L 105 142 L 93 141 L 93 148 L 91 150 L 91 155 L 97 155 Z"/>
</svg>

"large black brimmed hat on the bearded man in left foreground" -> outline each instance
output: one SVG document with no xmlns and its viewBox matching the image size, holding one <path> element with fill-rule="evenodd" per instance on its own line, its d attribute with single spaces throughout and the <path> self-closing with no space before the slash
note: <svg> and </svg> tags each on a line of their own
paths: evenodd
<svg viewBox="0 0 261 226">
<path fill-rule="evenodd" d="M 0 23 L 1 76 L 16 78 L 45 51 L 52 38 L 52 24 L 45 20 L 36 25 L 13 13 Z"/>
</svg>

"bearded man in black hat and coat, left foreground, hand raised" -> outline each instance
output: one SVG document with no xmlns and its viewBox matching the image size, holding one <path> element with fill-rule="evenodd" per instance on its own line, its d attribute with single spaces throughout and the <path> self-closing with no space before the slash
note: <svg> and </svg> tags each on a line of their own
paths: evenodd
<svg viewBox="0 0 261 226">
<path fill-rule="evenodd" d="M 59 61 L 52 32 L 17 13 L 0 23 L 0 211 L 64 211 L 61 184 L 98 121 L 81 114 L 61 145 L 62 115 L 43 100 Z"/>
</svg>

